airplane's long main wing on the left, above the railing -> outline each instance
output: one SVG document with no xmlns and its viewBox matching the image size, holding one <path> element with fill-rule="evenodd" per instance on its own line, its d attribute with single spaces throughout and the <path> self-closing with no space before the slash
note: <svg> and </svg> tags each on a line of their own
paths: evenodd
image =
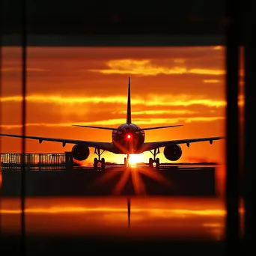
<svg viewBox="0 0 256 256">
<path fill-rule="evenodd" d="M 4 137 L 13 137 L 13 138 L 23 138 L 22 135 L 14 135 L 14 134 L 5 134 L 0 133 L 0 136 Z M 37 136 L 24 136 L 24 138 L 34 139 L 42 143 L 43 141 L 52 141 L 52 142 L 60 142 L 63 147 L 66 144 L 84 144 L 87 147 L 100 148 L 101 150 L 106 150 L 112 152 L 113 145 L 112 142 L 100 142 L 100 141 L 82 141 L 76 139 L 67 139 L 67 138 L 46 138 L 46 137 L 37 137 Z"/>
</svg>

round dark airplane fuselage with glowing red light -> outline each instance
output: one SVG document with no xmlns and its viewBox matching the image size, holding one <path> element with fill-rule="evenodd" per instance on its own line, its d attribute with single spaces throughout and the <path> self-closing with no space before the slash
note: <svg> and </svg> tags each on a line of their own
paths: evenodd
<svg viewBox="0 0 256 256">
<path fill-rule="evenodd" d="M 135 124 L 121 124 L 120 131 L 112 132 L 112 143 L 118 153 L 136 153 L 145 140 L 145 133 Z"/>
</svg>

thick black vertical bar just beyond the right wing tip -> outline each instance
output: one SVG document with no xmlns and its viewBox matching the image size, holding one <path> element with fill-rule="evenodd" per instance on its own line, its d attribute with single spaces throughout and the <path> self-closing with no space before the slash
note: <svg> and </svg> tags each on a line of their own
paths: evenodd
<svg viewBox="0 0 256 256">
<path fill-rule="evenodd" d="M 239 22 L 238 3 L 226 0 L 226 252 L 239 250 Z"/>
</svg>

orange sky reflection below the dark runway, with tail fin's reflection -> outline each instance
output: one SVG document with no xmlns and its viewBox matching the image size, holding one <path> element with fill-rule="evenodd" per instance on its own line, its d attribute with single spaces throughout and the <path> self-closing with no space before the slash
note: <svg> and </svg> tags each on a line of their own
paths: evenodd
<svg viewBox="0 0 256 256">
<path fill-rule="evenodd" d="M 2 234 L 19 232 L 19 207 L 18 198 L 2 199 Z M 27 198 L 25 212 L 28 235 L 157 235 L 222 240 L 225 231 L 225 204 L 219 198 L 132 197 L 129 230 L 124 197 Z M 242 215 L 243 210 L 240 212 Z"/>
</svg>

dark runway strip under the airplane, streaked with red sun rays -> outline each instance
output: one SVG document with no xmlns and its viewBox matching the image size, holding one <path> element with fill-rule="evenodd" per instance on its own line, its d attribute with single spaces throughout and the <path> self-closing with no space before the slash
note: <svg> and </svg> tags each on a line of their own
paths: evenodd
<svg viewBox="0 0 256 256">
<path fill-rule="evenodd" d="M 26 170 L 26 195 L 32 196 L 108 196 L 108 195 L 179 195 L 216 196 L 216 166 L 184 165 L 107 166 L 105 170 L 82 168 L 44 170 L 30 166 Z M 3 196 L 20 193 L 20 169 L 4 169 Z"/>
</svg>

